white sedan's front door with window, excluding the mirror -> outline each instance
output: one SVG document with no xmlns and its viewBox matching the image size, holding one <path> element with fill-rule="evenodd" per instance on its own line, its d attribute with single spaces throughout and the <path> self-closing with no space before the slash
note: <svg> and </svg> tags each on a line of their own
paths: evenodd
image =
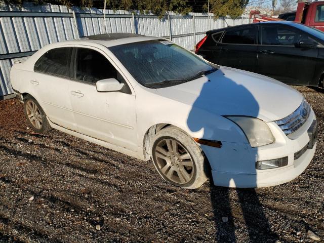
<svg viewBox="0 0 324 243">
<path fill-rule="evenodd" d="M 124 77 L 95 48 L 76 47 L 74 76 L 69 85 L 77 131 L 136 151 L 136 99 Z M 120 92 L 98 92 L 96 82 L 116 78 L 125 83 Z"/>
</svg>

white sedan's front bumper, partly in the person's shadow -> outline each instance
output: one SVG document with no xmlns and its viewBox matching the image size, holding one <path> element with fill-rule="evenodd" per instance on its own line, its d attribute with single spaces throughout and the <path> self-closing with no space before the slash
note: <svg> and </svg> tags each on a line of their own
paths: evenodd
<svg viewBox="0 0 324 243">
<path fill-rule="evenodd" d="M 212 168 L 214 184 L 225 187 L 268 187 L 289 182 L 298 177 L 314 156 L 316 143 L 310 141 L 308 129 L 316 119 L 314 112 L 292 136 L 286 136 L 273 122 L 268 123 L 275 142 L 252 148 L 248 143 L 222 142 L 222 148 L 201 145 Z M 302 155 L 298 154 L 302 151 Z M 296 156 L 298 154 L 298 156 Z M 257 170 L 256 162 L 288 156 L 288 165 L 280 168 Z"/>
</svg>

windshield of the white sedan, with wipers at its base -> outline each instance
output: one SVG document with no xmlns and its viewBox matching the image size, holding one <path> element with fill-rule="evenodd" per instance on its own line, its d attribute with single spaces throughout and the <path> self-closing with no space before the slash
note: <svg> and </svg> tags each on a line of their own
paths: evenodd
<svg viewBox="0 0 324 243">
<path fill-rule="evenodd" d="M 147 88 L 182 84 L 218 69 L 217 65 L 161 39 L 113 46 L 109 50 Z"/>
</svg>

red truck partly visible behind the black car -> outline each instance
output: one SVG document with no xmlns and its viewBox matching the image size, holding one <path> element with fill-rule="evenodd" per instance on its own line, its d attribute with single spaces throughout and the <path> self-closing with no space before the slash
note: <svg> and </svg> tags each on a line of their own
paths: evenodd
<svg viewBox="0 0 324 243">
<path fill-rule="evenodd" d="M 294 15 L 295 19 L 293 20 L 292 16 Z M 254 23 L 264 21 L 282 21 L 282 19 L 287 19 L 286 16 L 289 16 L 289 18 L 294 22 L 302 23 L 309 27 L 324 31 L 324 1 L 298 3 L 296 12 L 290 12 L 289 15 L 281 14 L 278 18 L 261 15 L 259 11 L 255 10 L 250 12 L 250 18 L 254 19 Z"/>
</svg>

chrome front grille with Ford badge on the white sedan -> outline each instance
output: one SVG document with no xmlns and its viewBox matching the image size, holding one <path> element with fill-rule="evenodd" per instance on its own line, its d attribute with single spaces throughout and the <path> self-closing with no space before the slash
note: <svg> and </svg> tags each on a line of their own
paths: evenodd
<svg viewBox="0 0 324 243">
<path fill-rule="evenodd" d="M 292 134 L 296 132 L 301 126 L 304 125 L 310 114 L 310 105 L 303 99 L 301 105 L 290 115 L 282 118 L 280 120 L 275 120 L 274 122 L 281 128 L 281 130 L 286 134 Z"/>
</svg>

